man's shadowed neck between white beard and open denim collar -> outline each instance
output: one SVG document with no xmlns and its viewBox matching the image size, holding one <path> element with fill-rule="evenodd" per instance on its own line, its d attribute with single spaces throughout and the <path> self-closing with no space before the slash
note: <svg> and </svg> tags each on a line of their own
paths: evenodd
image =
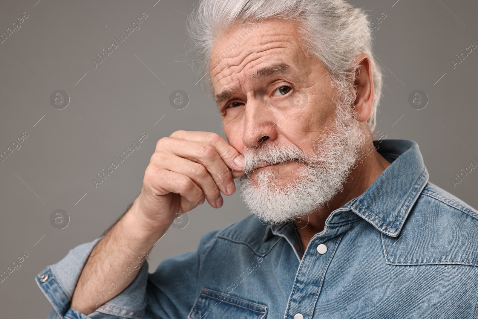
<svg viewBox="0 0 478 319">
<path fill-rule="evenodd" d="M 366 152 L 366 150 L 369 151 L 370 149 L 372 152 Z M 316 233 L 324 230 L 326 219 L 332 211 L 344 206 L 352 198 L 363 194 L 367 188 L 372 185 L 375 179 L 390 165 L 390 163 L 375 150 L 371 136 L 368 137 L 367 142 L 362 146 L 361 154 L 367 155 L 352 169 L 347 181 L 343 185 L 343 191 L 337 193 L 324 208 L 315 209 L 308 214 L 307 226 L 298 230 L 304 248 L 303 251 L 305 251 L 305 247 L 307 247 L 311 238 Z"/>
</svg>

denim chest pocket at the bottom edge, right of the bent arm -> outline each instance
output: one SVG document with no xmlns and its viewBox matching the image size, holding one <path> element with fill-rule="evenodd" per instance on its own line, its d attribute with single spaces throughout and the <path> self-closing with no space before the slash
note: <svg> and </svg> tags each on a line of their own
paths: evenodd
<svg viewBox="0 0 478 319">
<path fill-rule="evenodd" d="M 201 289 L 201 294 L 187 316 L 188 319 L 264 319 L 267 306 L 223 293 Z"/>
</svg>

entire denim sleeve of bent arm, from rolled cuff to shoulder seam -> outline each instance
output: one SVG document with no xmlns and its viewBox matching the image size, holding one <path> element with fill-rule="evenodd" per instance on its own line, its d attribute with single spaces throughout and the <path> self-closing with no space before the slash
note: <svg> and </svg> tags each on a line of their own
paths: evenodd
<svg viewBox="0 0 478 319">
<path fill-rule="evenodd" d="M 216 233 L 203 235 L 196 251 L 165 259 L 153 274 L 148 274 L 145 261 L 128 287 L 91 314 L 72 309 L 70 304 L 89 253 L 101 238 L 75 247 L 35 278 L 53 306 L 48 319 L 186 318 L 198 295 L 201 259 L 216 240 Z M 99 296 L 91 296 L 91 302 L 97 303 Z"/>
</svg>

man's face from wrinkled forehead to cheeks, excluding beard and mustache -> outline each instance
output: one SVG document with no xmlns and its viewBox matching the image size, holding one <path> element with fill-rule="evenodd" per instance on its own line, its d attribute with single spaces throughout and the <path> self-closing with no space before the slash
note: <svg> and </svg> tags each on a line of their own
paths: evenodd
<svg viewBox="0 0 478 319">
<path fill-rule="evenodd" d="M 228 142 L 241 154 L 263 143 L 293 144 L 311 152 L 333 120 L 335 90 L 325 66 L 305 55 L 295 25 L 269 20 L 249 29 L 233 28 L 217 38 L 212 56 L 221 51 L 228 56 L 213 59 L 211 78 L 216 95 L 234 90 L 218 100 Z M 288 162 L 261 169 L 290 178 L 299 165 Z"/>
</svg>

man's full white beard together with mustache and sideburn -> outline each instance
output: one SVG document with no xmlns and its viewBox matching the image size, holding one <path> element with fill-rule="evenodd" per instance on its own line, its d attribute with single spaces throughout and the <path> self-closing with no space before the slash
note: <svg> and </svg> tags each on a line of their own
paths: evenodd
<svg viewBox="0 0 478 319">
<path fill-rule="evenodd" d="M 347 99 L 347 98 L 346 98 Z M 252 214 L 266 223 L 282 223 L 323 208 L 338 192 L 357 159 L 365 134 L 354 118 L 350 99 L 337 102 L 336 121 L 326 136 L 315 141 L 313 154 L 307 156 L 295 145 L 264 143 L 244 153 L 244 172 L 239 177 L 241 197 Z M 296 176 L 284 182 L 268 167 L 255 171 L 258 165 L 301 162 Z M 282 184 L 282 185 L 281 185 Z"/>
</svg>

